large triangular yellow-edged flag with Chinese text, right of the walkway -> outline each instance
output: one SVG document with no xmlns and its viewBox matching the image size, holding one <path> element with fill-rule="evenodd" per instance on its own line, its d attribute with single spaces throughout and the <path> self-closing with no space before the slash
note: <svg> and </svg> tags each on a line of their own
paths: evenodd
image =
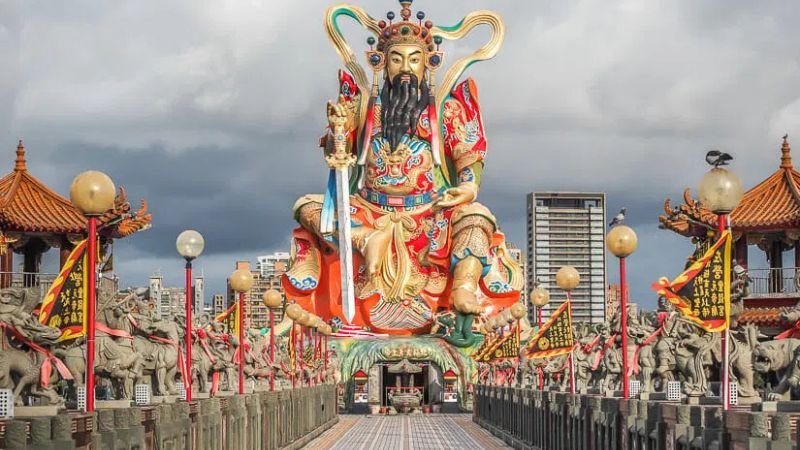
<svg viewBox="0 0 800 450">
<path fill-rule="evenodd" d="M 731 233 L 725 231 L 682 274 L 672 282 L 661 278 L 653 289 L 700 328 L 723 331 L 730 320 L 730 273 Z"/>
</svg>

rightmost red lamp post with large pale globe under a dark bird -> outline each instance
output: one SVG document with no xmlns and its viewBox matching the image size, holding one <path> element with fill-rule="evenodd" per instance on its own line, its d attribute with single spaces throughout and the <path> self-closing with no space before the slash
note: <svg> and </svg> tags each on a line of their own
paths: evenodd
<svg viewBox="0 0 800 450">
<path fill-rule="evenodd" d="M 706 172 L 703 178 L 700 179 L 700 186 L 698 189 L 700 193 L 700 203 L 708 209 L 717 214 L 717 231 L 719 236 L 728 228 L 728 214 L 733 211 L 739 204 L 739 201 L 744 195 L 742 189 L 742 181 L 739 177 L 723 167 L 714 167 Z M 726 282 L 730 282 L 730 273 L 725 273 Z M 730 295 L 730 293 L 728 293 Z M 725 304 L 730 302 L 730 298 L 724 299 Z M 728 322 L 729 318 L 726 317 L 725 321 Z M 727 411 L 730 409 L 730 361 L 728 352 L 729 340 L 729 325 L 726 325 L 725 330 L 720 335 L 720 350 L 722 351 L 722 409 Z"/>
</svg>

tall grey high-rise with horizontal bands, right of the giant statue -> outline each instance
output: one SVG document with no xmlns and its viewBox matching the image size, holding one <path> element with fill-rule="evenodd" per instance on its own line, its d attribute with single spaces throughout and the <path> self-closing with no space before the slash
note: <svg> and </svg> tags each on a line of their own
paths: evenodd
<svg viewBox="0 0 800 450">
<path fill-rule="evenodd" d="M 555 276 L 574 266 L 581 276 L 572 291 L 575 321 L 602 323 L 606 318 L 606 196 L 604 193 L 533 192 L 528 194 L 527 284 L 550 292 L 545 317 L 566 301 Z M 532 314 L 530 315 L 532 317 Z"/>
</svg>

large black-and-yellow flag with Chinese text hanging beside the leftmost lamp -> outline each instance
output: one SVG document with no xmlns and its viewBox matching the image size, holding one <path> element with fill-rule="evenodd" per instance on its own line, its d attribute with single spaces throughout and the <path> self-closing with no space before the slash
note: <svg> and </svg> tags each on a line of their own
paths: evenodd
<svg viewBox="0 0 800 450">
<path fill-rule="evenodd" d="M 61 330 L 59 340 L 81 337 L 86 332 L 87 242 L 81 241 L 70 252 L 39 309 L 39 322 Z"/>
</svg>

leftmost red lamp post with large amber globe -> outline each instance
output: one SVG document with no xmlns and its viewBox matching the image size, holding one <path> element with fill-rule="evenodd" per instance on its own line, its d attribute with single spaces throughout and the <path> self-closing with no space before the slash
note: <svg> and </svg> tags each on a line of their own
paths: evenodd
<svg viewBox="0 0 800 450">
<path fill-rule="evenodd" d="M 103 172 L 88 170 L 76 176 L 69 188 L 72 204 L 88 218 L 86 273 L 86 412 L 94 411 L 94 344 L 95 310 L 97 308 L 97 217 L 114 207 L 116 187 Z"/>
</svg>

